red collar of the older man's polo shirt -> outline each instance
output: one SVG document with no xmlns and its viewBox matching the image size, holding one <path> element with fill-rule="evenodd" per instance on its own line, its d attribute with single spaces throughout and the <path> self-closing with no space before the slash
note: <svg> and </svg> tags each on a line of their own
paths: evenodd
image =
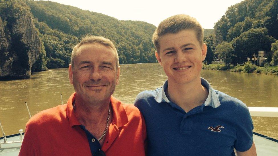
<svg viewBox="0 0 278 156">
<path fill-rule="evenodd" d="M 75 101 L 75 95 L 76 95 L 75 92 L 73 94 L 71 94 L 71 96 L 69 97 L 68 102 L 67 102 L 66 116 L 69 119 L 69 124 L 71 127 L 76 126 L 76 125 L 81 125 L 80 122 L 77 120 L 77 117 L 75 116 L 74 111 L 73 111 L 72 103 L 73 103 L 73 101 Z M 124 107 L 122 106 L 122 102 L 119 101 L 118 99 L 116 99 L 115 97 L 111 96 L 110 103 L 111 103 L 112 110 L 113 110 L 112 122 L 114 122 L 114 124 L 118 128 L 127 124 L 128 117 L 127 117 Z"/>
</svg>

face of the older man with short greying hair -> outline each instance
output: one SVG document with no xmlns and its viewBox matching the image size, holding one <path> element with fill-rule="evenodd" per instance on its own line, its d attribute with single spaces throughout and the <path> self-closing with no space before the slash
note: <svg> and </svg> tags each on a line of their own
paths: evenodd
<svg viewBox="0 0 278 156">
<path fill-rule="evenodd" d="M 119 73 L 115 51 L 99 43 L 81 45 L 74 68 L 69 66 L 69 80 L 76 96 L 93 103 L 110 100 L 119 83 Z"/>
</svg>

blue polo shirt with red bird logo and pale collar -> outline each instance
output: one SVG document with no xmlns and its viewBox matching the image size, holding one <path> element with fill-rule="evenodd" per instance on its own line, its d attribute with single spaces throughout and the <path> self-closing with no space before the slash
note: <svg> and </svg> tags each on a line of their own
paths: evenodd
<svg viewBox="0 0 278 156">
<path fill-rule="evenodd" d="M 142 112 L 148 138 L 148 155 L 235 155 L 253 143 L 253 123 L 242 101 L 211 88 L 205 103 L 185 112 L 169 101 L 161 88 L 143 91 L 134 105 Z M 185 95 L 186 96 L 186 95 Z"/>
</svg>

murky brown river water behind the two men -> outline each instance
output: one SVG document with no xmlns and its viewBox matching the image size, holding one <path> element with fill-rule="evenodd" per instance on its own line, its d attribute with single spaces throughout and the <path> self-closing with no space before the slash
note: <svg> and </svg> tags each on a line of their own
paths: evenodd
<svg viewBox="0 0 278 156">
<path fill-rule="evenodd" d="M 124 103 L 133 103 L 143 90 L 154 90 L 167 79 L 158 63 L 120 65 L 120 84 L 113 94 Z M 278 76 L 202 70 L 211 86 L 253 107 L 278 107 Z M 68 68 L 33 73 L 24 80 L 0 81 L 0 121 L 6 135 L 25 129 L 31 115 L 66 103 L 74 92 Z M 278 139 L 278 117 L 252 117 L 254 132 Z"/>
</svg>

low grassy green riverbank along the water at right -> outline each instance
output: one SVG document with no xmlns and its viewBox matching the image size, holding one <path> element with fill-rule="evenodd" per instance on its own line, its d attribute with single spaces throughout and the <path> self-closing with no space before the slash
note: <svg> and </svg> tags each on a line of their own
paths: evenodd
<svg viewBox="0 0 278 156">
<path fill-rule="evenodd" d="M 257 73 L 257 74 L 269 74 L 269 75 L 277 75 L 278 76 L 278 66 L 256 66 L 252 63 L 245 63 L 237 66 L 225 66 L 221 64 L 203 64 L 203 69 L 209 70 L 222 70 L 222 71 L 230 71 L 230 72 L 246 72 L 246 73 Z"/>
</svg>

